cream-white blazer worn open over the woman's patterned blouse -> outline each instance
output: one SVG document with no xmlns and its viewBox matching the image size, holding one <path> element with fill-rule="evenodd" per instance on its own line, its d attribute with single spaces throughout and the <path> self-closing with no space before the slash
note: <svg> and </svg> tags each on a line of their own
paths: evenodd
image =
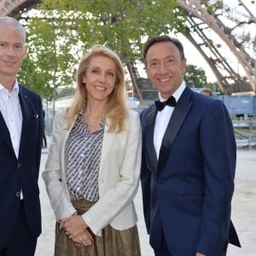
<svg viewBox="0 0 256 256">
<path fill-rule="evenodd" d="M 64 165 L 64 148 L 69 132 L 65 113 L 56 113 L 52 142 L 43 172 L 49 201 L 56 220 L 70 217 L 76 209 L 67 190 Z M 119 133 L 108 132 L 106 125 L 99 168 L 99 200 L 82 217 L 90 230 L 102 235 L 110 224 L 116 230 L 126 230 L 137 223 L 133 198 L 137 194 L 142 150 L 142 131 L 139 114 L 129 110 L 126 129 Z"/>
</svg>

